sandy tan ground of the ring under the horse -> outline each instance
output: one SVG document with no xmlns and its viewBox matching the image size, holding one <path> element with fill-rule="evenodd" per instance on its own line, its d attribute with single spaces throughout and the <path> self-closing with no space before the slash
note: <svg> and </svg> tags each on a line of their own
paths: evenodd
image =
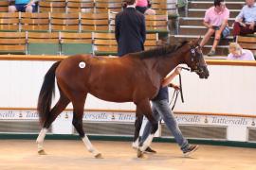
<svg viewBox="0 0 256 170">
<path fill-rule="evenodd" d="M 131 143 L 92 143 L 103 159 L 94 159 L 82 141 L 47 140 L 47 155 L 38 155 L 35 141 L 0 140 L 0 170 L 256 170 L 255 148 L 200 145 L 192 157 L 184 158 L 177 144 L 154 143 L 156 154 L 137 159 Z"/>
</svg>

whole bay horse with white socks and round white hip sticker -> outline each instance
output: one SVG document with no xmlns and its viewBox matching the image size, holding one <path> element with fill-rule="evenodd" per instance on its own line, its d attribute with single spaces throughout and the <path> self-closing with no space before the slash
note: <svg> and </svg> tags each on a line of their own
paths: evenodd
<svg viewBox="0 0 256 170">
<path fill-rule="evenodd" d="M 38 153 L 45 154 L 43 148 L 46 131 L 56 117 L 72 102 L 72 124 L 82 142 L 95 158 L 99 152 L 89 141 L 82 128 L 82 115 L 87 93 L 111 102 L 134 102 L 137 106 L 134 146 L 137 157 L 151 144 L 158 124 L 152 115 L 150 100 L 155 97 L 161 82 L 178 64 L 187 64 L 200 78 L 208 78 L 209 71 L 203 58 L 198 40 L 165 45 L 148 51 L 127 54 L 122 58 L 75 55 L 55 62 L 47 71 L 43 82 L 37 110 L 43 127 L 36 140 Z M 60 98 L 51 109 L 55 77 Z M 139 130 L 145 115 L 152 124 L 151 135 L 138 144 Z"/>
</svg>

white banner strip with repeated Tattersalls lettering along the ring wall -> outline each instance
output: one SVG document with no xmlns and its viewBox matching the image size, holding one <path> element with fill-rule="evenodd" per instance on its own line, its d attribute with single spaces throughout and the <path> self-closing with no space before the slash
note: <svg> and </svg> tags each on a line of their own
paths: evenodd
<svg viewBox="0 0 256 170">
<path fill-rule="evenodd" d="M 216 115 L 192 115 L 175 113 L 178 124 L 184 125 L 209 125 L 209 126 L 244 126 L 255 127 L 254 118 L 231 117 Z M 57 119 L 71 121 L 72 110 L 64 110 Z M 36 110 L 0 110 L 1 120 L 38 120 Z M 146 119 L 144 117 L 144 119 Z M 136 114 L 134 112 L 114 112 L 114 111 L 84 111 L 83 121 L 91 122 L 125 122 L 134 123 Z"/>
</svg>

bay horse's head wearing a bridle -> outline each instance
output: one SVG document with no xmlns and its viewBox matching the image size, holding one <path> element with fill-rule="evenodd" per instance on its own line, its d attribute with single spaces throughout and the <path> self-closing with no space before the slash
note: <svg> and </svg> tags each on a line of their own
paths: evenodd
<svg viewBox="0 0 256 170">
<path fill-rule="evenodd" d="M 190 48 L 185 56 L 185 62 L 200 78 L 208 78 L 209 70 L 198 42 L 199 39 L 188 42 Z"/>
</svg>

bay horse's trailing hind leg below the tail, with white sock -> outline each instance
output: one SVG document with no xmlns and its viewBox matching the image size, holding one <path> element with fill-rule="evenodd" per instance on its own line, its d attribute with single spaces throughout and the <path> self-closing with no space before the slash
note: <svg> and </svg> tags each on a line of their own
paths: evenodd
<svg viewBox="0 0 256 170">
<path fill-rule="evenodd" d="M 40 155 L 46 154 L 44 147 L 43 147 L 43 143 L 44 143 L 44 140 L 46 137 L 47 129 L 50 127 L 50 125 L 56 119 L 56 117 L 65 109 L 65 107 L 68 105 L 69 102 L 70 102 L 70 100 L 64 95 L 64 93 L 61 93 L 59 101 L 53 107 L 53 109 L 50 110 L 49 116 L 46 118 L 43 128 L 41 129 L 41 131 L 37 137 L 37 140 L 36 140 L 37 147 L 38 147 L 38 153 Z"/>
</svg>

